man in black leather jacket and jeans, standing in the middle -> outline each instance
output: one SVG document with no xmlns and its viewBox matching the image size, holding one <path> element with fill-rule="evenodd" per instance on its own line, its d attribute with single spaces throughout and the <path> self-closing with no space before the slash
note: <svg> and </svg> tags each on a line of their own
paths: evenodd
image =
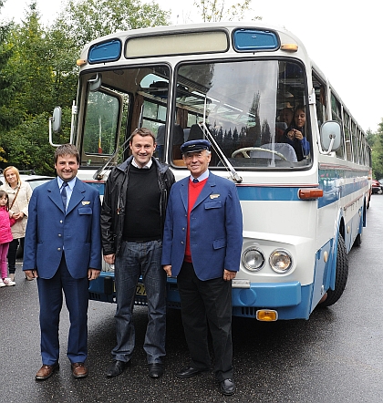
<svg viewBox="0 0 383 403">
<path fill-rule="evenodd" d="M 132 322 L 136 285 L 142 275 L 149 322 L 144 350 L 150 377 L 163 374 L 166 336 L 166 274 L 160 265 L 162 232 L 174 175 L 153 158 L 154 134 L 145 128 L 130 136 L 132 156 L 109 175 L 101 209 L 104 260 L 115 264 L 117 346 L 107 377 L 128 365 L 135 345 Z"/>
</svg>

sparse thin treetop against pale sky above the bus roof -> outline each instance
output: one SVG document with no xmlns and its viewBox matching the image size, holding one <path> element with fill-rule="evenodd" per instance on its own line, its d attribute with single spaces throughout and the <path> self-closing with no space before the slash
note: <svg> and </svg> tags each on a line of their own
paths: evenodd
<svg viewBox="0 0 383 403">
<path fill-rule="evenodd" d="M 203 22 L 243 20 L 251 11 L 252 0 L 243 0 L 226 7 L 225 0 L 195 0 L 194 5 L 201 11 Z M 254 16 L 253 19 L 262 19 Z"/>
</svg>

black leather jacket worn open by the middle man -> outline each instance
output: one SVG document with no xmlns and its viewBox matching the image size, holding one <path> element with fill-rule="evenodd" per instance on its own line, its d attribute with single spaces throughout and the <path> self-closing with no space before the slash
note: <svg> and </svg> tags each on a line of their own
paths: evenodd
<svg viewBox="0 0 383 403">
<path fill-rule="evenodd" d="M 119 254 L 123 225 L 125 221 L 126 194 L 129 183 L 129 165 L 133 157 L 130 156 L 121 165 L 114 168 L 105 187 L 104 200 L 101 209 L 101 233 L 104 254 Z M 160 220 L 161 228 L 165 222 L 166 205 L 168 203 L 174 175 L 166 164 L 152 159 L 157 167 L 157 176 L 160 186 Z"/>
</svg>

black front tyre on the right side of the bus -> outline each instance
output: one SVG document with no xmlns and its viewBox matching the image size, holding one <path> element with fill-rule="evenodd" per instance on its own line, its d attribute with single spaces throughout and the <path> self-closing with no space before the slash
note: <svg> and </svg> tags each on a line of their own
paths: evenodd
<svg viewBox="0 0 383 403">
<path fill-rule="evenodd" d="M 348 277 L 348 256 L 345 241 L 339 233 L 337 239 L 337 252 L 336 252 L 336 284 L 335 290 L 327 290 L 327 298 L 322 303 L 318 304 L 320 308 L 326 308 L 336 303 L 340 296 L 345 291 Z"/>
</svg>

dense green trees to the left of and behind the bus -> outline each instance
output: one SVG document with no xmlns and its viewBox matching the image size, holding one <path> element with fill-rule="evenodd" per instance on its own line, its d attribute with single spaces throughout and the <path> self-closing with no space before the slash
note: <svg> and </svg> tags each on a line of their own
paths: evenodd
<svg viewBox="0 0 383 403">
<path fill-rule="evenodd" d="M 65 131 L 54 142 L 67 142 L 81 48 L 112 32 L 167 25 L 169 16 L 158 4 L 139 0 L 67 0 L 51 27 L 40 24 L 36 2 L 21 24 L 0 24 L 0 167 L 8 160 L 20 170 L 54 173 L 48 119 L 62 107 Z"/>
</svg>

